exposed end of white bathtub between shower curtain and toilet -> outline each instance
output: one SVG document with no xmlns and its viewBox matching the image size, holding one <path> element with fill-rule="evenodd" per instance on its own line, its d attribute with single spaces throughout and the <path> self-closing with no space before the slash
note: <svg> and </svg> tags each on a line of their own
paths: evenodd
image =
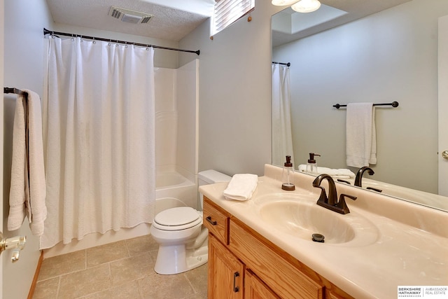
<svg viewBox="0 0 448 299">
<path fill-rule="evenodd" d="M 155 214 L 172 207 L 197 209 L 197 185 L 179 172 L 158 172 L 155 176 Z"/>
</svg>

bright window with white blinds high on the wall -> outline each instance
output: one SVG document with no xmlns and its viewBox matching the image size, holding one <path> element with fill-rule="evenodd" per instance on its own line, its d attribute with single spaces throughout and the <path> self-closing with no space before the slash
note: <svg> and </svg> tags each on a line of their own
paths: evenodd
<svg viewBox="0 0 448 299">
<path fill-rule="evenodd" d="M 255 0 L 216 0 L 211 35 L 221 32 L 255 8 Z"/>
</svg>

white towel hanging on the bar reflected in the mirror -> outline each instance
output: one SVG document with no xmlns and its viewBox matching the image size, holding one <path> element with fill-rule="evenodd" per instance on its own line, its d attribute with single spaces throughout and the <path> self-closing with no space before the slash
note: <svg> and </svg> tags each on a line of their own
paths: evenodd
<svg viewBox="0 0 448 299">
<path fill-rule="evenodd" d="M 363 167 L 377 164 L 377 133 L 373 103 L 347 104 L 346 163 Z"/>
</svg>

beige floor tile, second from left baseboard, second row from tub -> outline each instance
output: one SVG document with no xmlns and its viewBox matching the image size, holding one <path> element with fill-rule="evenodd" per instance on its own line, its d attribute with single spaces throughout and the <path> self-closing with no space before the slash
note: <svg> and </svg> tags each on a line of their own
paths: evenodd
<svg viewBox="0 0 448 299">
<path fill-rule="evenodd" d="M 78 298 L 110 288 L 109 265 L 98 265 L 61 276 L 58 298 Z"/>
</svg>

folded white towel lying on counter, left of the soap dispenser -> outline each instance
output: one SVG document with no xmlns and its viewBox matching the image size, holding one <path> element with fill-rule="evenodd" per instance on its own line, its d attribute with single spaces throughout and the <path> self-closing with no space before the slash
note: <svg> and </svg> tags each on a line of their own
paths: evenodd
<svg viewBox="0 0 448 299">
<path fill-rule="evenodd" d="M 257 183 L 256 174 L 235 174 L 224 190 L 224 197 L 226 200 L 250 200 Z"/>
</svg>

